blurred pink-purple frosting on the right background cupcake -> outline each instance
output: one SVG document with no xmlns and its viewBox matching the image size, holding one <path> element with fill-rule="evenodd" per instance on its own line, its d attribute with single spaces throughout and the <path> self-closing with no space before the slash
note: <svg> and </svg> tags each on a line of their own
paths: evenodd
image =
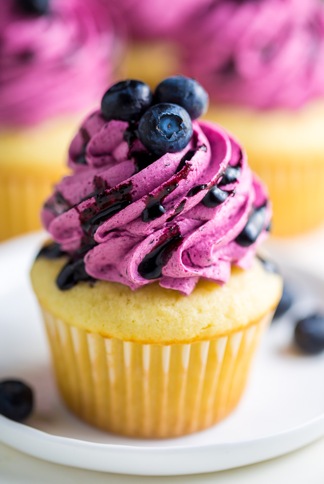
<svg viewBox="0 0 324 484">
<path fill-rule="evenodd" d="M 217 0 L 180 34 L 183 72 L 216 101 L 295 109 L 324 95 L 320 0 Z"/>
</svg>

